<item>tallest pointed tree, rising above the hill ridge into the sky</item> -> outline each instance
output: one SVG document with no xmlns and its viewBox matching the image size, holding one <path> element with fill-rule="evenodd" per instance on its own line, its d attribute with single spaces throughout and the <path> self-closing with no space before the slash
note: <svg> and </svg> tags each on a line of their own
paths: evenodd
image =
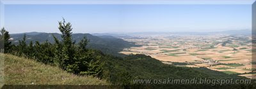
<svg viewBox="0 0 256 89">
<path fill-rule="evenodd" d="M 70 22 L 66 23 L 65 19 L 59 22 L 59 30 L 61 32 L 62 41 L 58 41 L 56 37 L 54 37 L 56 43 L 56 51 L 55 57 L 56 62 L 60 65 L 61 68 L 67 70 L 68 72 L 73 72 L 72 67 L 74 67 L 74 54 L 76 52 L 74 42 L 72 42 L 72 25 Z"/>
</svg>

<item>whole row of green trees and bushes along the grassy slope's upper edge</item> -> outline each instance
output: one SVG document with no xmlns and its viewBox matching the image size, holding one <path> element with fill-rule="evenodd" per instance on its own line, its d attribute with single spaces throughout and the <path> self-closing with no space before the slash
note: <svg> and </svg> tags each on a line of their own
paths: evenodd
<svg viewBox="0 0 256 89">
<path fill-rule="evenodd" d="M 12 53 L 20 57 L 32 58 L 44 64 L 56 65 L 61 69 L 80 75 L 102 76 L 103 53 L 86 48 L 88 40 L 84 37 L 78 44 L 72 41 L 72 25 L 65 20 L 59 22 L 61 41 L 53 34 L 54 44 L 45 41 L 26 43 L 26 34 L 13 46 Z M 9 36 L 10 37 L 10 36 Z"/>
</svg>

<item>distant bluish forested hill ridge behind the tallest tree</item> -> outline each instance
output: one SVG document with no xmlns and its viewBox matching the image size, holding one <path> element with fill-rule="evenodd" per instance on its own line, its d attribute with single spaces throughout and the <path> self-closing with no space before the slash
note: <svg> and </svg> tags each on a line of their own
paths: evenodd
<svg viewBox="0 0 256 89">
<path fill-rule="evenodd" d="M 43 43 L 45 41 L 49 41 L 50 43 L 54 43 L 54 38 L 52 35 L 56 36 L 56 38 L 61 39 L 61 34 L 58 33 L 44 33 L 44 32 L 28 32 L 21 34 L 10 34 L 11 41 L 13 44 L 19 44 L 19 40 L 22 40 L 24 34 L 26 34 L 26 43 L 30 43 L 30 41 L 39 41 Z M 92 34 L 72 34 L 72 39 L 76 42 L 81 41 L 83 37 L 89 40 L 88 48 L 93 48 L 100 50 L 104 53 L 122 56 L 122 54 L 118 53 L 122 51 L 123 48 L 128 48 L 131 46 L 138 46 L 135 43 L 124 41 L 120 38 L 115 38 L 113 36 L 93 36 Z"/>
</svg>

